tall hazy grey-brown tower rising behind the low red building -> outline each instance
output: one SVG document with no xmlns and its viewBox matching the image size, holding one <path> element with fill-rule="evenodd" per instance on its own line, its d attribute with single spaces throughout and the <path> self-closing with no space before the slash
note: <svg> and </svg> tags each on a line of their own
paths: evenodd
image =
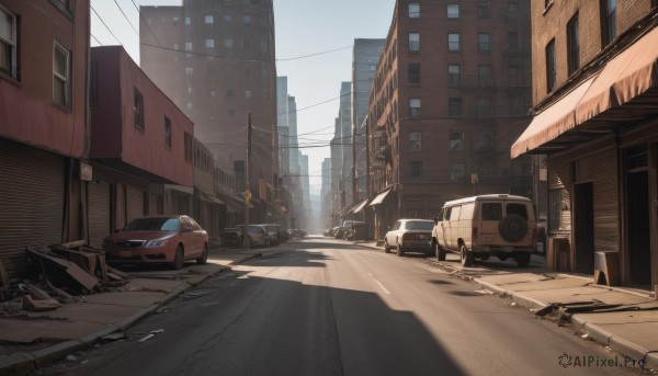
<svg viewBox="0 0 658 376">
<path fill-rule="evenodd" d="M 282 214 L 272 0 L 188 0 L 140 13 L 144 71 L 190 116 L 208 150 L 234 164 L 237 193 L 247 190 L 251 113 L 250 221 L 269 220 L 272 209 Z"/>
</svg>

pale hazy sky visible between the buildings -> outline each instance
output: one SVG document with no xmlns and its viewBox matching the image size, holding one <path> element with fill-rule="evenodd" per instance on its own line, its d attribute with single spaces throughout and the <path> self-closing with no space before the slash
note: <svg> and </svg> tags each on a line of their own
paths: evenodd
<svg viewBox="0 0 658 376">
<path fill-rule="evenodd" d="M 222 1 L 222 0 L 216 0 Z M 181 0 L 91 0 L 91 45 L 121 44 L 139 62 L 139 5 L 180 5 Z M 286 76 L 297 103 L 297 133 L 326 147 L 308 156 L 311 194 L 321 184 L 338 116 L 340 84 L 351 80 L 354 38 L 386 38 L 395 0 L 274 0 L 276 75 Z M 309 56 L 310 55 L 310 56 Z"/>
</svg>

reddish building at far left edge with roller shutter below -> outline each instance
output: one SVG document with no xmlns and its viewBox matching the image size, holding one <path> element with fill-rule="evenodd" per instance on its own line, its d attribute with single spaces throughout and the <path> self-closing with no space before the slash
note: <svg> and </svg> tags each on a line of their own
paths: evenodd
<svg viewBox="0 0 658 376">
<path fill-rule="evenodd" d="M 0 0 L 0 262 L 87 238 L 87 0 Z"/>
</svg>

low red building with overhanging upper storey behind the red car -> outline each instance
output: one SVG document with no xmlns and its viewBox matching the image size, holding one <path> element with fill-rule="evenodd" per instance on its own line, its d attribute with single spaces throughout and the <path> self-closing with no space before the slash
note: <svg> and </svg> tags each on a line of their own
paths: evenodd
<svg viewBox="0 0 658 376">
<path fill-rule="evenodd" d="M 90 121 L 90 246 L 145 215 L 194 216 L 194 124 L 122 46 L 91 48 Z"/>
</svg>

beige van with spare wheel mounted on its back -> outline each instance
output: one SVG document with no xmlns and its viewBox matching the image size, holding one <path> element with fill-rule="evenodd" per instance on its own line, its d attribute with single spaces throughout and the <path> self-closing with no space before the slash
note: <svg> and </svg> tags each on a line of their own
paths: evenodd
<svg viewBox="0 0 658 376">
<path fill-rule="evenodd" d="M 462 265 L 474 259 L 514 258 L 527 266 L 537 223 L 527 197 L 487 194 L 446 202 L 434 218 L 432 247 L 439 261 L 446 252 L 460 253 Z"/>
</svg>

